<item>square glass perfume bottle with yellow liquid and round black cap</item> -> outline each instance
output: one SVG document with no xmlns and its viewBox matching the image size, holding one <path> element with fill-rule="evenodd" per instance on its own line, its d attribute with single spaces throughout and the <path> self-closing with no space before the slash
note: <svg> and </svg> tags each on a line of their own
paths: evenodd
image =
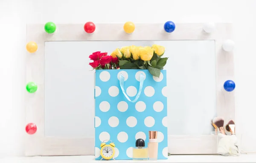
<svg viewBox="0 0 256 163">
<path fill-rule="evenodd" d="M 136 147 L 133 148 L 133 160 L 148 160 L 148 148 L 145 147 L 143 139 L 136 140 Z"/>
</svg>

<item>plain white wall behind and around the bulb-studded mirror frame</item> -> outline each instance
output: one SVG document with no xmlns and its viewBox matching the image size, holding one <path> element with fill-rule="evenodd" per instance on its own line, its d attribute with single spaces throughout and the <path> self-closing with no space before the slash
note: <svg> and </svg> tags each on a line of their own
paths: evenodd
<svg viewBox="0 0 256 163">
<path fill-rule="evenodd" d="M 23 155 L 26 23 L 232 22 L 236 123 L 256 151 L 255 0 L 0 0 L 0 156 Z M 72 29 L 70 29 L 72 30 Z"/>
</svg>

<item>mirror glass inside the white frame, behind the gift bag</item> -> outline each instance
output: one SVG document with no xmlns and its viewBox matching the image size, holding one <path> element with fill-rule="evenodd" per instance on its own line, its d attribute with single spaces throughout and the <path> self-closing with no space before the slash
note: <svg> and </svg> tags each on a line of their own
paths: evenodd
<svg viewBox="0 0 256 163">
<path fill-rule="evenodd" d="M 95 51 L 122 46 L 166 47 L 169 57 L 168 134 L 211 134 L 216 115 L 214 40 L 55 41 L 45 42 L 44 134 L 46 137 L 94 137 Z"/>
</svg>

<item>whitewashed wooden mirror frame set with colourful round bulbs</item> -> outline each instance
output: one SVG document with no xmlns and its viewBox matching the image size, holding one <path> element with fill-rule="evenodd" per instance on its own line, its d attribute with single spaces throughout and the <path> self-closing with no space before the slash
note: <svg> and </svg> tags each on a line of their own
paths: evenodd
<svg viewBox="0 0 256 163">
<path fill-rule="evenodd" d="M 216 95 L 217 114 L 229 120 L 235 118 L 233 92 L 226 92 L 223 84 L 234 78 L 233 52 L 225 52 L 222 44 L 232 39 L 232 26 L 229 23 L 215 24 L 216 30 L 207 34 L 202 23 L 176 24 L 172 33 L 163 30 L 163 24 L 136 24 L 132 34 L 123 31 L 123 24 L 96 24 L 96 31 L 87 34 L 83 24 L 56 24 L 57 31 L 47 34 L 44 24 L 27 25 L 26 41 L 35 41 L 38 51 L 27 54 L 26 82 L 38 84 L 35 94 L 26 94 L 26 123 L 35 123 L 38 131 L 26 135 L 26 156 L 35 155 L 93 155 L 94 137 L 56 138 L 44 137 L 44 42 L 45 41 L 94 41 L 94 40 L 215 40 L 216 54 Z M 188 122 L 189 123 L 189 122 Z M 171 154 L 216 154 L 217 138 L 214 135 L 168 136 Z"/>
</svg>

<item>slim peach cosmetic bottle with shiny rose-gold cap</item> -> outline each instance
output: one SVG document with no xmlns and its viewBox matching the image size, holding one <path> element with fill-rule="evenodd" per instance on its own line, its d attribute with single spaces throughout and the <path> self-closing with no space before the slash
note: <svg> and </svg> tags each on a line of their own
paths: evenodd
<svg viewBox="0 0 256 163">
<path fill-rule="evenodd" d="M 149 160 L 157 160 L 158 152 L 158 141 L 157 141 L 157 131 L 149 131 L 148 140 L 148 158 Z"/>
</svg>

